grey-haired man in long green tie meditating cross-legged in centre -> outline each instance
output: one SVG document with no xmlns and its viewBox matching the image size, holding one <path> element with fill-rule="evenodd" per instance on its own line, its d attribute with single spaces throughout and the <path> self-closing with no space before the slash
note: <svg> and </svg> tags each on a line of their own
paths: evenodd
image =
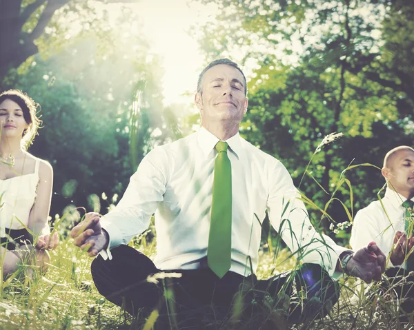
<svg viewBox="0 0 414 330">
<path fill-rule="evenodd" d="M 335 271 L 342 272 L 342 267 L 366 282 L 380 280 L 385 256 L 377 245 L 370 242 L 353 254 L 319 234 L 304 203 L 297 198 L 299 193 L 284 165 L 239 136 L 239 123 L 248 105 L 246 94 L 246 77 L 236 63 L 228 59 L 210 63 L 199 75 L 195 95 L 201 129 L 152 149 L 130 178 L 117 207 L 102 218 L 86 214 L 85 220 L 72 229 L 76 246 L 88 251 L 91 257 L 99 254 L 92 262 L 97 289 L 126 311 L 134 314 L 141 307 L 159 308 L 165 300 L 162 287 L 153 281 L 148 283 L 146 278 L 160 271 L 181 274 L 179 278 L 170 278 L 176 308 L 180 310 L 211 303 L 230 308 L 243 283 L 255 289 L 248 296 L 250 302 L 253 298 L 263 301 L 266 293 L 276 302 L 283 296 L 279 294 L 282 290 L 291 293 L 292 280 L 296 278 L 297 283 L 306 286 L 308 298 L 317 296 L 322 306 L 306 311 L 300 304 L 290 305 L 286 313 L 295 322 L 305 315 L 324 315 L 329 305 L 325 302 L 337 301 L 337 282 L 331 276 Z M 217 184 L 216 149 L 222 145 L 219 141 L 228 146 L 224 152 L 231 167 L 231 238 L 229 243 L 220 245 L 221 261 L 228 265 L 224 273 L 213 270 L 210 250 L 215 247 L 210 240 L 215 238 L 209 235 L 214 223 L 211 209 Z M 226 181 L 226 176 L 222 181 Z M 221 194 L 228 198 L 224 192 Z M 228 212 L 225 208 L 223 214 Z M 284 242 L 305 262 L 296 277 L 286 273 L 257 280 L 254 275 L 266 210 Z M 134 236 L 147 229 L 152 214 L 157 231 L 154 262 L 127 246 Z M 227 256 L 228 263 L 224 260 Z"/>
</svg>

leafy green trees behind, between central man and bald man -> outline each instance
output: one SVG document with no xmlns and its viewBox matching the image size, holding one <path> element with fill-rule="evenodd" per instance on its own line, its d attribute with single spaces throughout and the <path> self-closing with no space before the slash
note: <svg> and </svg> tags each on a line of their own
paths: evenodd
<svg viewBox="0 0 414 330">
<path fill-rule="evenodd" d="M 221 8 L 200 38 L 206 60 L 232 56 L 253 68 L 242 135 L 279 158 L 319 208 L 343 168 L 380 167 L 389 149 L 412 144 L 410 1 L 201 2 Z M 333 132 L 344 138 L 315 154 L 300 180 L 317 141 Z M 354 201 L 346 186 L 336 194 L 355 209 L 373 200 L 384 182 L 378 169 L 366 167 L 354 168 L 346 178 Z M 339 223 L 348 220 L 335 201 L 328 213 Z M 311 214 L 328 227 L 322 214 Z"/>
</svg>

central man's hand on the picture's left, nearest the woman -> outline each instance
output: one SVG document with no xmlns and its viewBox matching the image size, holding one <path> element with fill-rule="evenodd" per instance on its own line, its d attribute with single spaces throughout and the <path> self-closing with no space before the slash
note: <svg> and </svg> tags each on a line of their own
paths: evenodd
<svg viewBox="0 0 414 330">
<path fill-rule="evenodd" d="M 108 247 L 108 234 L 101 229 L 99 214 L 94 212 L 85 214 L 85 219 L 72 228 L 70 236 L 74 238 L 73 243 L 88 252 L 90 257 L 97 256 L 102 249 Z"/>
</svg>

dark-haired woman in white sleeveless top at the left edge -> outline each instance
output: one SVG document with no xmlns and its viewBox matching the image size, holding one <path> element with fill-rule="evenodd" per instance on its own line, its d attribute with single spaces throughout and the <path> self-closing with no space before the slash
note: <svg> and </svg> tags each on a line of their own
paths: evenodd
<svg viewBox="0 0 414 330">
<path fill-rule="evenodd" d="M 55 249 L 48 214 L 52 197 L 50 164 L 27 152 L 39 127 L 37 103 L 19 90 L 0 94 L 0 265 L 3 278 L 21 263 L 46 271 L 47 249 Z"/>
</svg>

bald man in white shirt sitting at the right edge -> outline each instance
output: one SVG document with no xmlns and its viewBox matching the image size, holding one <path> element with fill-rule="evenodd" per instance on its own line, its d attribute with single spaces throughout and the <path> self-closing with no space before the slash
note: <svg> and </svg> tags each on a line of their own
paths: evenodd
<svg viewBox="0 0 414 330">
<path fill-rule="evenodd" d="M 406 145 L 391 149 L 384 157 L 382 175 L 387 185 L 385 196 L 357 212 L 350 244 L 353 249 L 359 249 L 375 240 L 387 256 L 385 274 L 388 280 L 382 285 L 389 287 L 414 271 L 411 261 L 414 255 L 410 254 L 414 238 L 410 233 L 412 228 L 408 227 L 414 205 L 414 149 Z M 408 284 L 399 285 L 400 289 L 395 292 L 400 298 L 409 298 L 402 305 L 404 311 L 413 311 L 414 292 L 410 289 L 414 277 L 409 276 L 405 281 Z"/>
</svg>

